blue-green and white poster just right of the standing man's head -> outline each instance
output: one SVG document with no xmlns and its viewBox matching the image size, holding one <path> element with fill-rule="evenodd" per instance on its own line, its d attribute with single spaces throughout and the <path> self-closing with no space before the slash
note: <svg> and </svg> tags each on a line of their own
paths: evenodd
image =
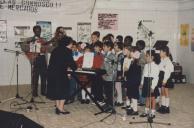
<svg viewBox="0 0 194 128">
<path fill-rule="evenodd" d="M 41 27 L 41 37 L 49 41 L 52 38 L 52 26 L 50 21 L 37 21 L 37 25 Z"/>
</svg>

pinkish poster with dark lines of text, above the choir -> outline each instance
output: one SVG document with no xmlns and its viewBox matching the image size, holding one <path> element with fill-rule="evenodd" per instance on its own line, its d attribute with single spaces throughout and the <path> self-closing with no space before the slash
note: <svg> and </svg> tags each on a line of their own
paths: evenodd
<svg viewBox="0 0 194 128">
<path fill-rule="evenodd" d="M 118 30 L 118 14 L 98 14 L 98 29 Z"/>
</svg>

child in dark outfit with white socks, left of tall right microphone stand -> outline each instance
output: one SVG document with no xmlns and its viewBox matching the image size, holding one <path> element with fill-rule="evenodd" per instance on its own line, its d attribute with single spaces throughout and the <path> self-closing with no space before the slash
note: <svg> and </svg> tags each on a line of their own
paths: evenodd
<svg viewBox="0 0 194 128">
<path fill-rule="evenodd" d="M 132 47 L 130 51 L 132 58 L 129 70 L 126 72 L 127 96 L 131 99 L 131 107 L 127 108 L 127 115 L 138 115 L 137 100 L 139 98 L 139 85 L 141 82 L 141 66 L 138 64 L 140 52 L 136 47 Z"/>
</svg>

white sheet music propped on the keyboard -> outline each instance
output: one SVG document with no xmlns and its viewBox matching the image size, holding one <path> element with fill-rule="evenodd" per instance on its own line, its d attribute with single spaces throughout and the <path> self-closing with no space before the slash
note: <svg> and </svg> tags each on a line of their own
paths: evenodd
<svg viewBox="0 0 194 128">
<path fill-rule="evenodd" d="M 94 61 L 94 53 L 84 53 L 83 66 L 82 68 L 92 68 Z"/>
</svg>

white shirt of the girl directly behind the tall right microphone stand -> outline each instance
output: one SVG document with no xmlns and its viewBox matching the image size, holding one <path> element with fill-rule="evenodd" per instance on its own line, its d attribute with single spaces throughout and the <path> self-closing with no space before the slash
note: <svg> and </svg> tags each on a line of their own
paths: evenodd
<svg viewBox="0 0 194 128">
<path fill-rule="evenodd" d="M 154 90 L 158 84 L 159 72 L 160 72 L 159 66 L 155 64 L 155 62 L 146 64 L 143 70 L 141 85 L 143 85 L 144 77 L 152 77 L 153 79 L 151 88 Z"/>
</svg>

